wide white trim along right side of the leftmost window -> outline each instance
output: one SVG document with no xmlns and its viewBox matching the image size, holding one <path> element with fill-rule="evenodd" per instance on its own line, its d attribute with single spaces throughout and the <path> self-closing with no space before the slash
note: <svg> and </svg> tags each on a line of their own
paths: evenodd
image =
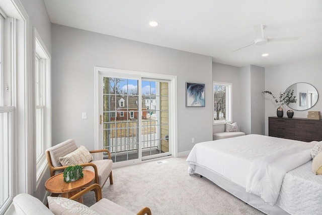
<svg viewBox="0 0 322 215">
<path fill-rule="evenodd" d="M 12 137 L 12 165 L 9 168 L 12 170 L 12 178 L 10 190 L 12 197 L 16 193 L 31 193 L 32 186 L 32 156 L 30 143 L 32 143 L 32 118 L 33 113 L 30 112 L 30 92 L 32 92 L 32 73 L 30 73 L 30 41 L 29 41 L 29 17 L 22 7 L 19 0 L 2 0 L 0 1 L 2 8 L 8 20 L 11 22 L 13 29 L 10 32 L 13 35 L 13 46 L 10 48 L 12 53 L 6 55 L 9 59 L 9 69 L 12 72 L 11 76 L 11 104 L 14 107 L 12 116 L 11 133 Z M 18 75 L 19 74 L 19 75 Z M 18 135 L 19 134 L 19 135 Z M 12 202 L 12 198 L 9 199 Z M 6 207 L 6 206 L 5 206 Z M 0 209 L 3 212 L 4 207 Z"/>
</svg>

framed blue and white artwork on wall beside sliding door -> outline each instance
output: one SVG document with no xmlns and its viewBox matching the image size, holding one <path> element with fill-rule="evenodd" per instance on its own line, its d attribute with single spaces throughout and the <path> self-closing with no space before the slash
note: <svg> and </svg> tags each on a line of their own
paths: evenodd
<svg viewBox="0 0 322 215">
<path fill-rule="evenodd" d="M 186 82 L 186 106 L 205 106 L 205 84 Z"/>
</svg>

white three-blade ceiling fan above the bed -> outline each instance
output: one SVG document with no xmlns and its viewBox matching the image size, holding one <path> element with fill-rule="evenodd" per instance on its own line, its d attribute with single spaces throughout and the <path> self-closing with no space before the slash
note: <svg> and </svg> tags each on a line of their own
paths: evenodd
<svg viewBox="0 0 322 215">
<path fill-rule="evenodd" d="M 292 41 L 292 40 L 298 40 L 301 38 L 301 37 L 266 38 L 264 36 L 264 27 L 265 26 L 263 26 L 262 24 L 254 25 L 254 31 L 255 31 L 255 35 L 256 35 L 255 41 L 250 44 L 247 44 L 246 46 L 239 47 L 239 48 L 233 50 L 233 52 L 237 51 L 239 49 L 246 48 L 251 45 L 263 45 L 265 43 L 270 43 L 270 42 Z"/>
</svg>

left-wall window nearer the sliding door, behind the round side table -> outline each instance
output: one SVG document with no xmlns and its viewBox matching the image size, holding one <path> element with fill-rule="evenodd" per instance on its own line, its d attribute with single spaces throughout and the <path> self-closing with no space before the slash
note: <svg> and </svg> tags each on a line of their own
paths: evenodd
<svg viewBox="0 0 322 215">
<path fill-rule="evenodd" d="M 35 30 L 35 148 L 36 178 L 34 191 L 37 190 L 42 174 L 47 168 L 45 150 L 50 143 L 50 57 Z"/>
</svg>

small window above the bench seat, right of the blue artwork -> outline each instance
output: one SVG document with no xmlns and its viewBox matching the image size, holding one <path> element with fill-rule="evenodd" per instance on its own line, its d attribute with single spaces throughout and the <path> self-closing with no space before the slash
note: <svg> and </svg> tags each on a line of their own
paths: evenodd
<svg viewBox="0 0 322 215">
<path fill-rule="evenodd" d="M 231 122 L 232 83 L 213 82 L 213 123 Z"/>
</svg>

